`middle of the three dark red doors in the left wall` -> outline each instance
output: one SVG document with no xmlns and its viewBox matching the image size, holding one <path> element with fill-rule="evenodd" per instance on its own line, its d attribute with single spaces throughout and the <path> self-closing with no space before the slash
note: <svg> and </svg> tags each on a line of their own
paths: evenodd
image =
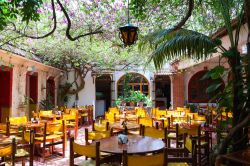
<svg viewBox="0 0 250 166">
<path fill-rule="evenodd" d="M 27 116 L 31 117 L 31 112 L 36 111 L 38 103 L 38 73 L 27 72 L 26 74 L 26 99 L 29 100 L 29 110 Z"/>
</svg>

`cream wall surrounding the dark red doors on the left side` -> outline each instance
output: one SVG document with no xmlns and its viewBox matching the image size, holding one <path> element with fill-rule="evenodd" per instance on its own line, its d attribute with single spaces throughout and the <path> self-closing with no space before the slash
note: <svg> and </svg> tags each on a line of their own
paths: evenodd
<svg viewBox="0 0 250 166">
<path fill-rule="evenodd" d="M 10 116 L 25 115 L 24 112 L 20 111 L 19 106 L 24 102 L 24 96 L 26 96 L 26 74 L 28 67 L 34 66 L 35 72 L 38 73 L 38 103 L 46 99 L 46 81 L 50 76 L 55 78 L 55 97 L 57 98 L 61 70 L 3 50 L 0 50 L 0 59 L 1 64 L 4 66 L 14 65 L 12 75 L 12 111 Z"/>
</svg>

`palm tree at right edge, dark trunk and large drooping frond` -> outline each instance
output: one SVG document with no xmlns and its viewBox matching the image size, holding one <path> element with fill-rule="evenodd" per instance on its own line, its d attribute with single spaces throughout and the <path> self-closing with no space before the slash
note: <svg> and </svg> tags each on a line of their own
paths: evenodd
<svg viewBox="0 0 250 166">
<path fill-rule="evenodd" d="M 242 58 L 237 49 L 239 32 L 244 17 L 243 3 L 237 15 L 238 23 L 235 34 L 233 33 L 234 28 L 231 24 L 230 15 L 233 5 L 228 0 L 217 0 L 216 3 L 228 32 L 229 49 L 223 47 L 219 39 L 213 39 L 210 36 L 188 29 L 164 29 L 150 33 L 139 43 L 139 49 L 141 51 L 153 50 L 149 61 L 153 61 L 157 69 L 160 69 L 166 60 L 183 58 L 204 60 L 216 52 L 221 53 L 221 56 L 227 59 L 233 77 L 232 83 L 229 84 L 229 86 L 232 86 L 230 93 L 232 94 L 233 128 L 220 143 L 217 151 L 218 154 L 225 154 L 229 145 L 232 145 L 233 151 L 246 147 L 246 133 L 244 133 L 243 128 L 247 127 L 250 122 L 250 98 L 248 97 L 250 96 L 250 67 L 248 65 L 250 56 Z M 246 15 L 249 15 L 249 13 Z M 224 95 L 228 93 L 230 88 L 225 89 L 227 91 L 225 90 Z"/>
</svg>

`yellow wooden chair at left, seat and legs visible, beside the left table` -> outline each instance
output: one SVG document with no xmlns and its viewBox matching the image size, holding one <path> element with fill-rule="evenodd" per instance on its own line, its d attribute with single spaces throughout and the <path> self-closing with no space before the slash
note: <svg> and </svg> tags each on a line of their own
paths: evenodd
<svg viewBox="0 0 250 166">
<path fill-rule="evenodd" d="M 42 144 L 42 160 L 45 161 L 46 148 L 52 147 L 54 153 L 54 146 L 62 144 L 62 156 L 65 157 L 66 148 L 66 129 L 64 121 L 62 124 L 47 124 L 44 123 L 42 133 L 36 133 L 35 143 Z"/>
</svg>

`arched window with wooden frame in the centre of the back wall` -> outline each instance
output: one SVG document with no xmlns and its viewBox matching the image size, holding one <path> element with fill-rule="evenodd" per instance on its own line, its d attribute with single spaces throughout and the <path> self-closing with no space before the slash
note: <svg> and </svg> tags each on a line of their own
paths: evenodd
<svg viewBox="0 0 250 166">
<path fill-rule="evenodd" d="M 117 96 L 126 97 L 129 91 L 140 91 L 149 95 L 148 80 L 139 73 L 127 73 L 117 82 Z"/>
</svg>

